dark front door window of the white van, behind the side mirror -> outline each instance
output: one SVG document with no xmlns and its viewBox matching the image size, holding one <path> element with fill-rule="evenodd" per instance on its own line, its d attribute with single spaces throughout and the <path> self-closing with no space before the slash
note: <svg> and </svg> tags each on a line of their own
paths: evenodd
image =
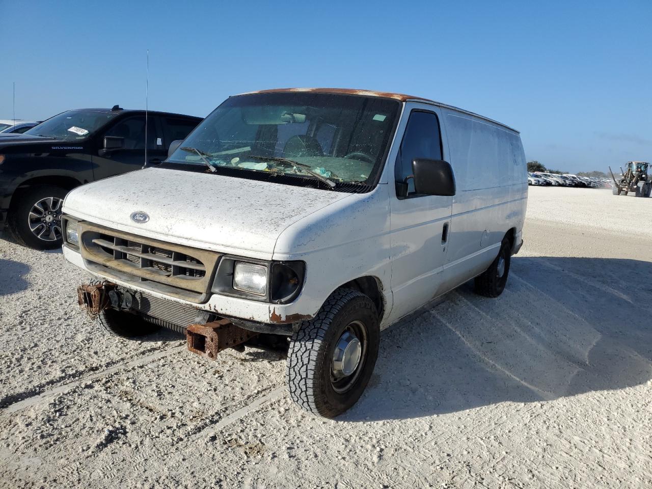
<svg viewBox="0 0 652 489">
<path fill-rule="evenodd" d="M 442 159 L 439 119 L 435 113 L 419 110 L 410 113 L 394 164 L 394 177 L 397 182 L 404 181 L 412 174 L 412 160 L 415 158 Z M 416 195 L 413 179 L 408 180 L 408 195 Z"/>
</svg>

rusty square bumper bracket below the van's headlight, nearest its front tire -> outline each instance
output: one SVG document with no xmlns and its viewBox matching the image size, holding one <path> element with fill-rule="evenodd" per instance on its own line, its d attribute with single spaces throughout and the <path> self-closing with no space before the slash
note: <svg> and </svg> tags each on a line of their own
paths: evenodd
<svg viewBox="0 0 652 489">
<path fill-rule="evenodd" d="M 201 357 L 215 360 L 223 349 L 237 348 L 258 333 L 239 328 L 228 319 L 219 319 L 206 324 L 191 324 L 186 329 L 188 349 Z"/>
</svg>

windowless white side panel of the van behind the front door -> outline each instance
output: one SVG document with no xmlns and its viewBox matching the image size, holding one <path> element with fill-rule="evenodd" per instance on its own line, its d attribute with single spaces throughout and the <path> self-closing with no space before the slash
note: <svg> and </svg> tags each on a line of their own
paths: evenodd
<svg viewBox="0 0 652 489">
<path fill-rule="evenodd" d="M 490 265 L 508 230 L 521 232 L 527 166 L 517 132 L 447 109 L 443 123 L 456 181 L 444 267 L 447 286 L 454 287 Z"/>
</svg>

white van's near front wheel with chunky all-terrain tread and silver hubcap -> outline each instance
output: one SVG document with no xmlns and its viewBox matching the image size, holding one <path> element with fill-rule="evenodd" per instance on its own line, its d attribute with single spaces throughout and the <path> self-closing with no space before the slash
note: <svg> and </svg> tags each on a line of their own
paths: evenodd
<svg viewBox="0 0 652 489">
<path fill-rule="evenodd" d="M 292 400 L 327 418 L 351 408 L 376 365 L 378 322 L 369 297 L 351 289 L 335 291 L 291 338 L 286 381 Z"/>
</svg>

